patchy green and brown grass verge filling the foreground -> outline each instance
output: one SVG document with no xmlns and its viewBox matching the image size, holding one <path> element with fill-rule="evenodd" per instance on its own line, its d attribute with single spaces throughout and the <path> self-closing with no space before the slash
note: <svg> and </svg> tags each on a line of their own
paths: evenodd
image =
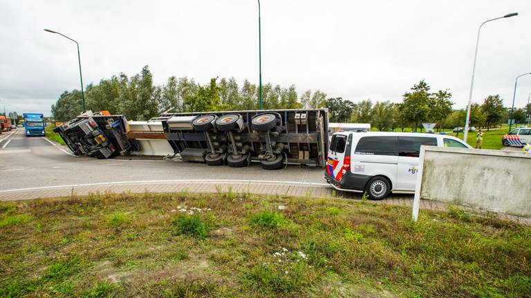
<svg viewBox="0 0 531 298">
<path fill-rule="evenodd" d="M 2 202 L 0 297 L 530 297 L 531 228 L 410 215 L 231 191 Z"/>
</svg>

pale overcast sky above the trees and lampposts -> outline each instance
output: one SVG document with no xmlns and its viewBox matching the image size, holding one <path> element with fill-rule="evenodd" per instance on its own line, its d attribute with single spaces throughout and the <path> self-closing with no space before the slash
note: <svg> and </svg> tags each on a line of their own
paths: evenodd
<svg viewBox="0 0 531 298">
<path fill-rule="evenodd" d="M 358 102 L 402 99 L 425 79 L 468 100 L 479 24 L 473 101 L 499 94 L 510 106 L 517 75 L 531 72 L 531 1 L 262 0 L 263 83 L 322 90 Z M 157 84 L 235 77 L 258 83 L 258 6 L 252 0 L 0 0 L 0 108 L 50 114 L 64 90 L 149 65 Z M 516 106 L 531 92 L 519 79 Z"/>
</svg>

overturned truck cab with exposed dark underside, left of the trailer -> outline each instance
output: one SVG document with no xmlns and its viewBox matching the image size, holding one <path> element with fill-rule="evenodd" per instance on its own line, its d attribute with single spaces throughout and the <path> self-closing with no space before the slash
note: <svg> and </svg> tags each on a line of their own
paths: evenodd
<svg viewBox="0 0 531 298">
<path fill-rule="evenodd" d="M 71 121 L 53 129 L 62 137 L 74 155 L 106 159 L 115 154 L 129 155 L 138 150 L 134 139 L 127 137 L 129 125 L 124 115 L 109 112 L 83 112 Z"/>
</svg>

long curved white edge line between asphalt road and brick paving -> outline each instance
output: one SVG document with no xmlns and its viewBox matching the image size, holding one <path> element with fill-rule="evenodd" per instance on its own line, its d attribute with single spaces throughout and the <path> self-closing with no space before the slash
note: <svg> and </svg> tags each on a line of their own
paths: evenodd
<svg viewBox="0 0 531 298">
<path fill-rule="evenodd" d="M 109 186 L 109 185 L 120 185 L 120 184 L 163 184 L 163 183 L 209 183 L 209 184 L 227 184 L 227 183 L 267 183 L 267 184 L 293 184 L 299 186 L 328 186 L 328 183 L 313 183 L 313 182 L 296 182 L 296 181 L 274 181 L 274 180 L 230 180 L 230 179 L 182 179 L 182 180 L 140 180 L 140 181 L 117 181 L 117 182 L 101 182 L 101 183 L 85 183 L 85 184 L 70 184 L 62 186 L 42 186 L 35 188 L 17 188 L 12 190 L 0 190 L 2 192 L 17 192 L 17 191 L 26 191 L 26 190 L 46 190 L 54 188 L 75 188 L 75 187 L 84 187 L 84 186 Z"/>
</svg>

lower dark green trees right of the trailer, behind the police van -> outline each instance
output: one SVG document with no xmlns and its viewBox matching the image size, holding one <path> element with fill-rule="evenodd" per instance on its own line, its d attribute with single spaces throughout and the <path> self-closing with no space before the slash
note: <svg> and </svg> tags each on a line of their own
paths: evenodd
<svg viewBox="0 0 531 298">
<path fill-rule="evenodd" d="M 341 97 L 330 98 L 326 107 L 330 110 L 330 122 L 371 123 L 378 130 L 411 128 L 416 131 L 423 122 L 435 122 L 438 130 L 462 127 L 466 121 L 466 110 L 453 110 L 451 92 L 438 90 L 430 92 L 426 81 L 420 81 L 409 92 L 402 95 L 401 103 L 376 101 L 371 99 L 353 103 Z M 531 104 L 525 108 L 515 108 L 515 123 L 525 123 Z M 473 103 L 470 110 L 470 126 L 491 128 L 506 123 L 510 118 L 510 108 L 503 106 L 500 95 L 489 95 L 482 104 Z"/>
</svg>

